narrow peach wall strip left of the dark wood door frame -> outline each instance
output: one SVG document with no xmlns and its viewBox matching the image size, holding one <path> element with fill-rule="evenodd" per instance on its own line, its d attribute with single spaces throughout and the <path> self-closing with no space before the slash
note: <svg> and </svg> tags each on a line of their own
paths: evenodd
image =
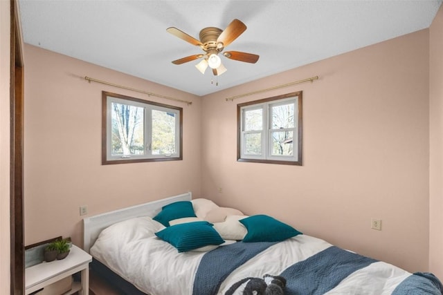
<svg viewBox="0 0 443 295">
<path fill-rule="evenodd" d="M 10 293 L 10 1 L 0 1 L 0 294 Z"/>
</svg>

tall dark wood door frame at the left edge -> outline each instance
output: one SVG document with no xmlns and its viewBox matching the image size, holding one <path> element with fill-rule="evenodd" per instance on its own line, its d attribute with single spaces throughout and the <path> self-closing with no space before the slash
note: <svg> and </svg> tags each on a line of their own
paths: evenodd
<svg viewBox="0 0 443 295">
<path fill-rule="evenodd" d="M 17 1 L 10 0 L 10 292 L 24 294 L 24 62 Z"/>
</svg>

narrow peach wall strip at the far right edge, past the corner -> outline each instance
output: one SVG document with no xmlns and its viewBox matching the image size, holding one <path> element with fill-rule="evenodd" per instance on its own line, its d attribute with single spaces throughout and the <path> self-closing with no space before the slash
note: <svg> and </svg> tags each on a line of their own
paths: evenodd
<svg viewBox="0 0 443 295">
<path fill-rule="evenodd" d="M 429 267 L 443 278 L 443 7 L 429 29 Z"/>
</svg>

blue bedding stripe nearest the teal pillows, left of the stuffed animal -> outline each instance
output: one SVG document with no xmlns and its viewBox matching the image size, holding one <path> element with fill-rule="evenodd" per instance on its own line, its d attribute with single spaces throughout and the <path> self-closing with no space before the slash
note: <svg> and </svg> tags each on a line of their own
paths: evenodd
<svg viewBox="0 0 443 295">
<path fill-rule="evenodd" d="M 195 274 L 193 295 L 217 294 L 221 283 L 234 269 L 277 242 L 235 242 L 207 252 Z M 217 265 L 217 267 L 214 267 Z"/>
</svg>

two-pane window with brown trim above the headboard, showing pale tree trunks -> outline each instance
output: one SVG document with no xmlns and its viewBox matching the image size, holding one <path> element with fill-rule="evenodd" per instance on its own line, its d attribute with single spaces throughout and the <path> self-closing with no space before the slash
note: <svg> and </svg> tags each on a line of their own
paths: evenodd
<svg viewBox="0 0 443 295">
<path fill-rule="evenodd" d="M 182 160 L 183 108 L 102 92 L 102 164 Z"/>
</svg>

